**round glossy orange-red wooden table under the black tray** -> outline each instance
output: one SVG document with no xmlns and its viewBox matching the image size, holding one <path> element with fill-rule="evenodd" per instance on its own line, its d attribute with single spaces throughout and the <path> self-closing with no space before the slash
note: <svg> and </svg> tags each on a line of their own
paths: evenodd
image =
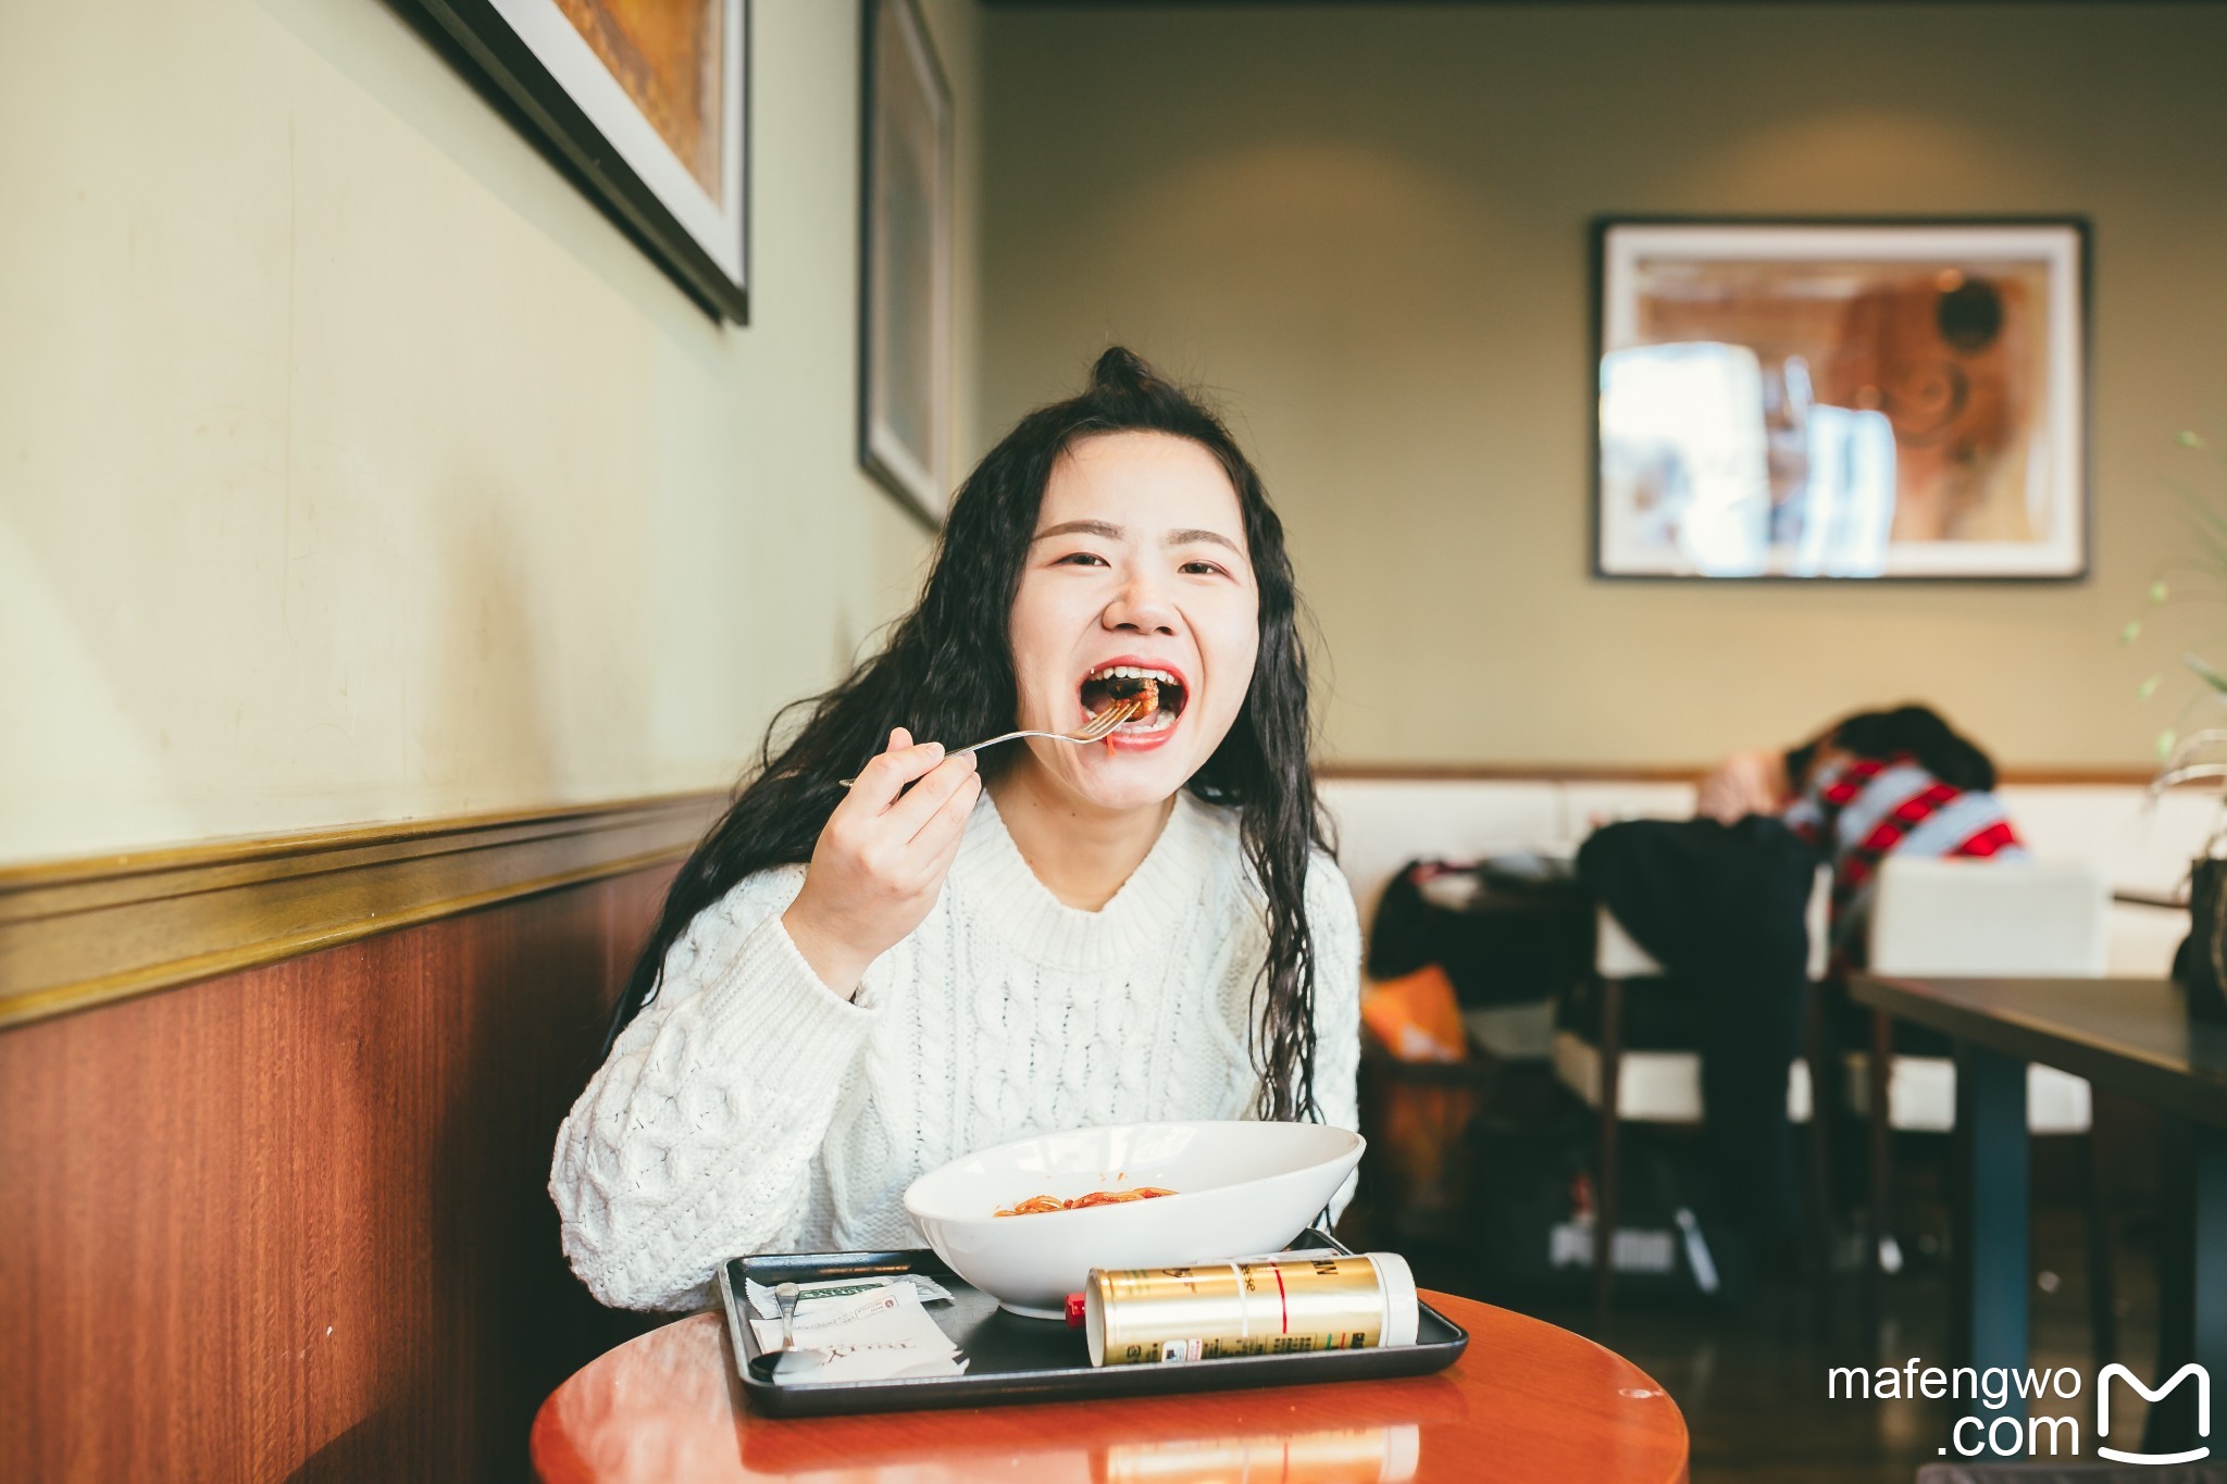
<svg viewBox="0 0 2227 1484">
<path fill-rule="evenodd" d="M 1686 1417 L 1639 1366 L 1505 1308 L 1423 1295 L 1470 1330 L 1439 1375 L 1114 1402 L 864 1417 L 764 1417 L 726 1324 L 630 1339 L 534 1417 L 543 1484 L 797 1480 L 1684 1480 Z"/>
</svg>

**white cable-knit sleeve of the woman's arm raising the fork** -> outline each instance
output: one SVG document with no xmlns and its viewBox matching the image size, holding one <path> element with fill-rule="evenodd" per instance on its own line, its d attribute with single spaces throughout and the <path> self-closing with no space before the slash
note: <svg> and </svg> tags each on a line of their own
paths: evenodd
<svg viewBox="0 0 2227 1484">
<path fill-rule="evenodd" d="M 820 1146 L 880 1015 L 871 972 L 846 1001 L 791 943 L 802 886 L 802 865 L 766 870 L 697 914 L 557 1132 L 563 1253 L 604 1304 L 688 1308 L 728 1257 L 808 1230 Z"/>
</svg>

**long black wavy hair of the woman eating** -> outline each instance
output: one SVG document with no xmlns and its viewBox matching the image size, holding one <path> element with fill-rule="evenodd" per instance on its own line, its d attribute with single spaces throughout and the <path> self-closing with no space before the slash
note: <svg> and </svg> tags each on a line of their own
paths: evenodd
<svg viewBox="0 0 2227 1484">
<path fill-rule="evenodd" d="M 1330 841 L 1307 761 L 1307 654 L 1283 521 L 1223 421 L 1122 347 L 1098 356 L 1080 396 L 1024 416 L 967 476 L 920 605 L 897 621 L 889 645 L 835 690 L 775 716 L 735 803 L 666 894 L 612 1010 L 606 1057 L 619 1030 L 657 997 L 666 952 L 697 912 L 753 872 L 811 861 L 842 799 L 837 779 L 880 752 L 891 728 L 902 725 L 922 741 L 960 743 L 1016 725 L 1011 616 L 1044 483 L 1078 438 L 1111 432 L 1160 432 L 1198 443 L 1223 465 L 1245 514 L 1245 547 L 1260 592 L 1260 652 L 1238 719 L 1187 788 L 1238 812 L 1245 861 L 1267 903 L 1267 961 L 1254 981 L 1252 1006 L 1252 1052 L 1260 1072 L 1256 1112 L 1265 1119 L 1318 1117 L 1307 859 Z M 967 683 L 953 685 L 951 676 L 967 676 Z M 799 710 L 808 712 L 804 725 L 779 741 Z M 995 748 L 978 756 L 987 783 L 1016 752 Z"/>
</svg>

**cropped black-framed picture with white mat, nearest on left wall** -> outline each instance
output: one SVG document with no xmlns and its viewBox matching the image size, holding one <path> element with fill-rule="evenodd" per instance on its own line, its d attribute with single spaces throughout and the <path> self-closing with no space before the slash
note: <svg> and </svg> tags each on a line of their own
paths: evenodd
<svg viewBox="0 0 2227 1484">
<path fill-rule="evenodd" d="M 414 2 L 666 274 L 748 323 L 748 0 Z"/>
</svg>

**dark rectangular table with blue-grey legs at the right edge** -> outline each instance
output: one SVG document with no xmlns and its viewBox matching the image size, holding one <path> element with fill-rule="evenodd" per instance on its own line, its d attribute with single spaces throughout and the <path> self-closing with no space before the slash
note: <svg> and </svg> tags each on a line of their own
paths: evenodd
<svg viewBox="0 0 2227 1484">
<path fill-rule="evenodd" d="M 2027 1063 L 2040 1061 L 2169 1115 L 2158 1371 L 2145 1379 L 2162 1384 L 2191 1359 L 2227 1377 L 2227 1026 L 2189 1019 L 2167 979 L 1855 975 L 1848 992 L 1958 1041 L 1960 1326 L 1971 1362 L 2027 1364 Z M 2022 1415 L 2022 1404 L 2004 1411 Z M 2194 1424 L 2196 1388 L 2182 1384 L 2151 1406 L 2142 1448 L 2191 1448 L 2203 1442 Z"/>
</svg>

